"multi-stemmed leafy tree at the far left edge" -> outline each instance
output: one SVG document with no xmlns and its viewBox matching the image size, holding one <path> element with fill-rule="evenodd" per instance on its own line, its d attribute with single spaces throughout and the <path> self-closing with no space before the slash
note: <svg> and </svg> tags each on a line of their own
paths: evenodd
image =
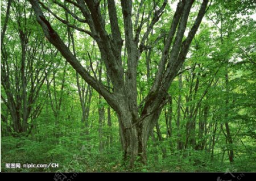
<svg viewBox="0 0 256 181">
<path fill-rule="evenodd" d="M 48 71 L 51 65 L 44 60 L 43 36 L 30 26 L 35 20 L 31 18 L 32 9 L 27 9 L 27 5 L 13 1 L 7 4 L 1 32 L 1 85 L 4 90 L 1 99 L 6 107 L 2 117 L 7 120 L 9 113 L 11 116 L 10 129 L 30 134 L 32 120 L 43 108 L 43 102 L 38 99 L 44 94 L 40 91 L 46 80 L 44 71 Z"/>
</svg>

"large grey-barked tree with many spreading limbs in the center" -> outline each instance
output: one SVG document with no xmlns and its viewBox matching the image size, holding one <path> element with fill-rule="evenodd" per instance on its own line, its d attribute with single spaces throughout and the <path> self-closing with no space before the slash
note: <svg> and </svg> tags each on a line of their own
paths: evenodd
<svg viewBox="0 0 256 181">
<path fill-rule="evenodd" d="M 60 2 L 53 1 L 57 5 L 62 6 Z M 119 121 L 119 129 L 121 133 L 121 142 L 123 147 L 123 157 L 125 161 L 129 161 L 129 166 L 132 167 L 137 156 L 141 162 L 146 163 L 146 143 L 154 128 L 162 107 L 168 101 L 167 90 L 169 89 L 172 80 L 181 68 L 187 55 L 189 45 L 197 29 L 200 26 L 201 20 L 207 10 L 208 1 L 204 0 L 201 3 L 200 10 L 196 17 L 188 36 L 184 36 L 187 27 L 189 12 L 194 1 L 180 1 L 177 4 L 177 9 L 172 19 L 168 35 L 164 40 L 164 48 L 159 61 L 158 71 L 155 75 L 154 82 L 151 85 L 150 91 L 146 98 L 138 105 L 137 100 L 137 68 L 141 54 L 148 47 L 145 46 L 145 41 L 150 35 L 151 30 L 154 30 L 156 23 L 160 21 L 167 6 L 167 0 L 154 4 L 154 10 L 144 12 L 146 2 L 138 9 L 133 23 L 133 2 L 121 1 L 122 23 L 124 26 L 124 35 L 119 28 L 117 13 L 119 13 L 119 5 L 115 2 L 108 1 L 108 15 L 110 21 L 110 33 L 106 31 L 104 18 L 100 1 L 67 1 L 73 8 L 79 9 L 84 20 L 78 18 L 71 11 L 68 11 L 71 16 L 77 20 L 88 24 L 90 30 L 84 30 L 76 25 L 69 24 L 67 21 L 59 18 L 56 14 L 52 14 L 61 22 L 76 30 L 87 33 L 92 39 L 97 42 L 101 52 L 101 58 L 106 67 L 113 86 L 113 91 L 109 91 L 106 86 L 96 77 L 93 77 L 79 63 L 77 58 L 72 54 L 71 50 L 64 44 L 58 33 L 53 30 L 51 24 L 46 19 L 40 5 L 44 9 L 48 9 L 44 3 L 35 0 L 30 0 L 32 8 L 35 11 L 36 19 L 43 29 L 47 39 L 60 51 L 66 60 L 73 68 L 81 75 L 85 81 L 93 87 L 100 95 L 102 95 L 113 110 L 117 113 Z M 40 4 L 40 5 L 39 5 Z M 65 9 L 65 7 L 64 7 Z M 143 10 L 142 10 L 143 9 Z M 143 11 L 143 13 L 141 13 Z M 51 10 L 49 10 L 51 12 Z M 145 19 L 146 14 L 148 18 Z M 139 19 L 141 22 L 139 24 Z M 144 22 L 151 20 L 147 28 L 144 27 Z M 123 39 L 125 37 L 125 49 L 127 50 L 127 69 L 122 61 Z M 172 41 L 174 39 L 174 41 Z M 149 45 L 150 47 L 150 45 Z M 140 111 L 141 110 L 141 111 Z"/>
</svg>

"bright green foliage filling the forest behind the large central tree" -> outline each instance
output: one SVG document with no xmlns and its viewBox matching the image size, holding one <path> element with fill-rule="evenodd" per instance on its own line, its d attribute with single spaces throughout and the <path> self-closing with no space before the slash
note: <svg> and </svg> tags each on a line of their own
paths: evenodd
<svg viewBox="0 0 256 181">
<path fill-rule="evenodd" d="M 106 32 L 112 39 L 108 6 L 104 2 L 100 1 L 101 12 L 105 15 Z M 134 1 L 132 12 L 133 22 L 136 20 L 136 12 L 140 12 L 139 22 L 133 27 L 135 33 L 141 23 L 142 13 L 147 17 L 143 20 L 139 39 L 142 39 L 154 18 L 154 12 L 164 1 L 143 2 L 144 7 L 139 8 L 141 1 Z M 212 1 L 179 75 L 166 90 L 169 94 L 168 101 L 163 105 L 158 125 L 155 125 L 147 142 L 147 164 L 142 164 L 136 158 L 130 169 L 123 161 L 119 136 L 121 125 L 116 112 L 80 75 L 76 76 L 73 67 L 56 52 L 44 37 L 41 28 L 35 26 L 37 22 L 28 1 L 14 1 L 6 35 L 3 37 L 5 46 L 1 49 L 1 52 L 5 50 L 1 56 L 7 57 L 6 64 L 1 64 L 1 71 L 8 74 L 6 77 L 9 78 L 1 77 L 2 171 L 224 172 L 228 168 L 255 171 L 256 30 L 255 20 L 251 18 L 255 15 L 255 3 L 252 2 Z M 6 5 L 7 1 L 1 4 L 1 22 L 6 19 Z M 198 5 L 199 2 L 196 2 L 193 8 L 197 9 Z M 74 10 L 77 17 L 83 16 L 71 3 L 65 3 L 65 6 Z M 89 30 L 87 23 L 79 22 L 71 14 L 65 14 L 64 9 L 55 3 L 49 2 L 49 7 L 59 18 L 68 18 L 69 23 Z M 24 10 L 28 13 L 26 16 Z M 116 10 L 121 36 L 125 39 L 119 2 Z M 43 11 L 69 49 L 76 50 L 76 58 L 80 64 L 92 77 L 101 79 L 106 89 L 113 92 L 97 42 L 88 34 L 72 28 L 72 32 L 68 33 L 65 24 L 47 10 Z M 168 1 L 163 15 L 145 41 L 145 50 L 139 58 L 137 103 L 142 104 L 142 107 L 142 101 L 150 92 L 158 72 L 170 30 L 170 17 L 173 15 L 174 9 Z M 196 12 L 192 12 L 186 31 L 191 28 L 195 18 Z M 22 68 L 22 44 L 19 38 L 21 31 L 30 33 L 24 62 L 26 75 L 32 75 L 26 79 L 25 87 L 22 87 L 19 72 Z M 71 35 L 74 37 L 74 47 Z M 154 43 L 153 47 L 147 47 Z M 123 44 L 121 56 L 126 76 L 127 47 L 125 41 Z M 35 47 L 37 48 L 33 49 Z M 34 86 L 39 85 L 38 78 L 43 80 L 43 84 L 37 91 Z M 10 83 L 10 86 L 6 87 L 3 82 Z M 35 94 L 38 95 L 37 98 L 30 101 Z M 152 94 L 157 95 L 158 92 Z M 22 99 L 24 95 L 27 96 L 26 100 Z M 25 109 L 26 102 L 30 103 L 27 104 L 29 108 Z M 14 130 L 15 115 L 19 117 L 20 126 L 24 121 L 21 108 L 23 111 L 30 110 L 26 132 Z M 13 111 L 14 109 L 17 111 Z M 232 151 L 234 162 L 230 163 Z M 58 163 L 59 168 L 7 169 L 6 163 Z"/>
</svg>

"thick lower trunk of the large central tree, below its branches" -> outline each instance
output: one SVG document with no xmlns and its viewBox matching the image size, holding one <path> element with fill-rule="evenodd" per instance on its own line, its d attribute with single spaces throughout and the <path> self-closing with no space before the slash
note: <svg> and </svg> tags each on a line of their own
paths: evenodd
<svg viewBox="0 0 256 181">
<path fill-rule="evenodd" d="M 162 110 L 159 109 L 153 115 L 148 116 L 141 121 L 133 120 L 131 113 L 129 112 L 118 114 L 123 161 L 129 168 L 133 167 L 135 161 L 146 165 L 147 140 L 156 121 L 158 121 L 161 111 Z M 127 123 L 131 124 L 127 125 Z"/>
</svg>

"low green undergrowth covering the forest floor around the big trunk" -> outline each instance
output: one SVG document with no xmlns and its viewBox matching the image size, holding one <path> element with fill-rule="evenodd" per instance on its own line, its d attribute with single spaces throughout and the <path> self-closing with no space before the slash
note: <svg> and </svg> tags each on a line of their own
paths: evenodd
<svg viewBox="0 0 256 181">
<path fill-rule="evenodd" d="M 82 141 L 72 138 L 34 141 L 26 137 L 2 137 L 3 172 L 226 172 L 227 170 L 245 172 L 256 171 L 255 155 L 239 153 L 231 165 L 228 158 L 221 161 L 221 154 L 205 151 L 182 150 L 170 151 L 166 158 L 161 150 L 151 149 L 148 145 L 148 163 L 146 166 L 135 163 L 134 169 L 122 166 L 122 151 L 118 143 L 98 150 L 94 141 Z M 94 142 L 94 143 L 93 143 Z M 7 169 L 6 163 L 20 163 L 20 169 Z M 23 164 L 58 163 L 59 168 L 23 168 Z"/>
</svg>

